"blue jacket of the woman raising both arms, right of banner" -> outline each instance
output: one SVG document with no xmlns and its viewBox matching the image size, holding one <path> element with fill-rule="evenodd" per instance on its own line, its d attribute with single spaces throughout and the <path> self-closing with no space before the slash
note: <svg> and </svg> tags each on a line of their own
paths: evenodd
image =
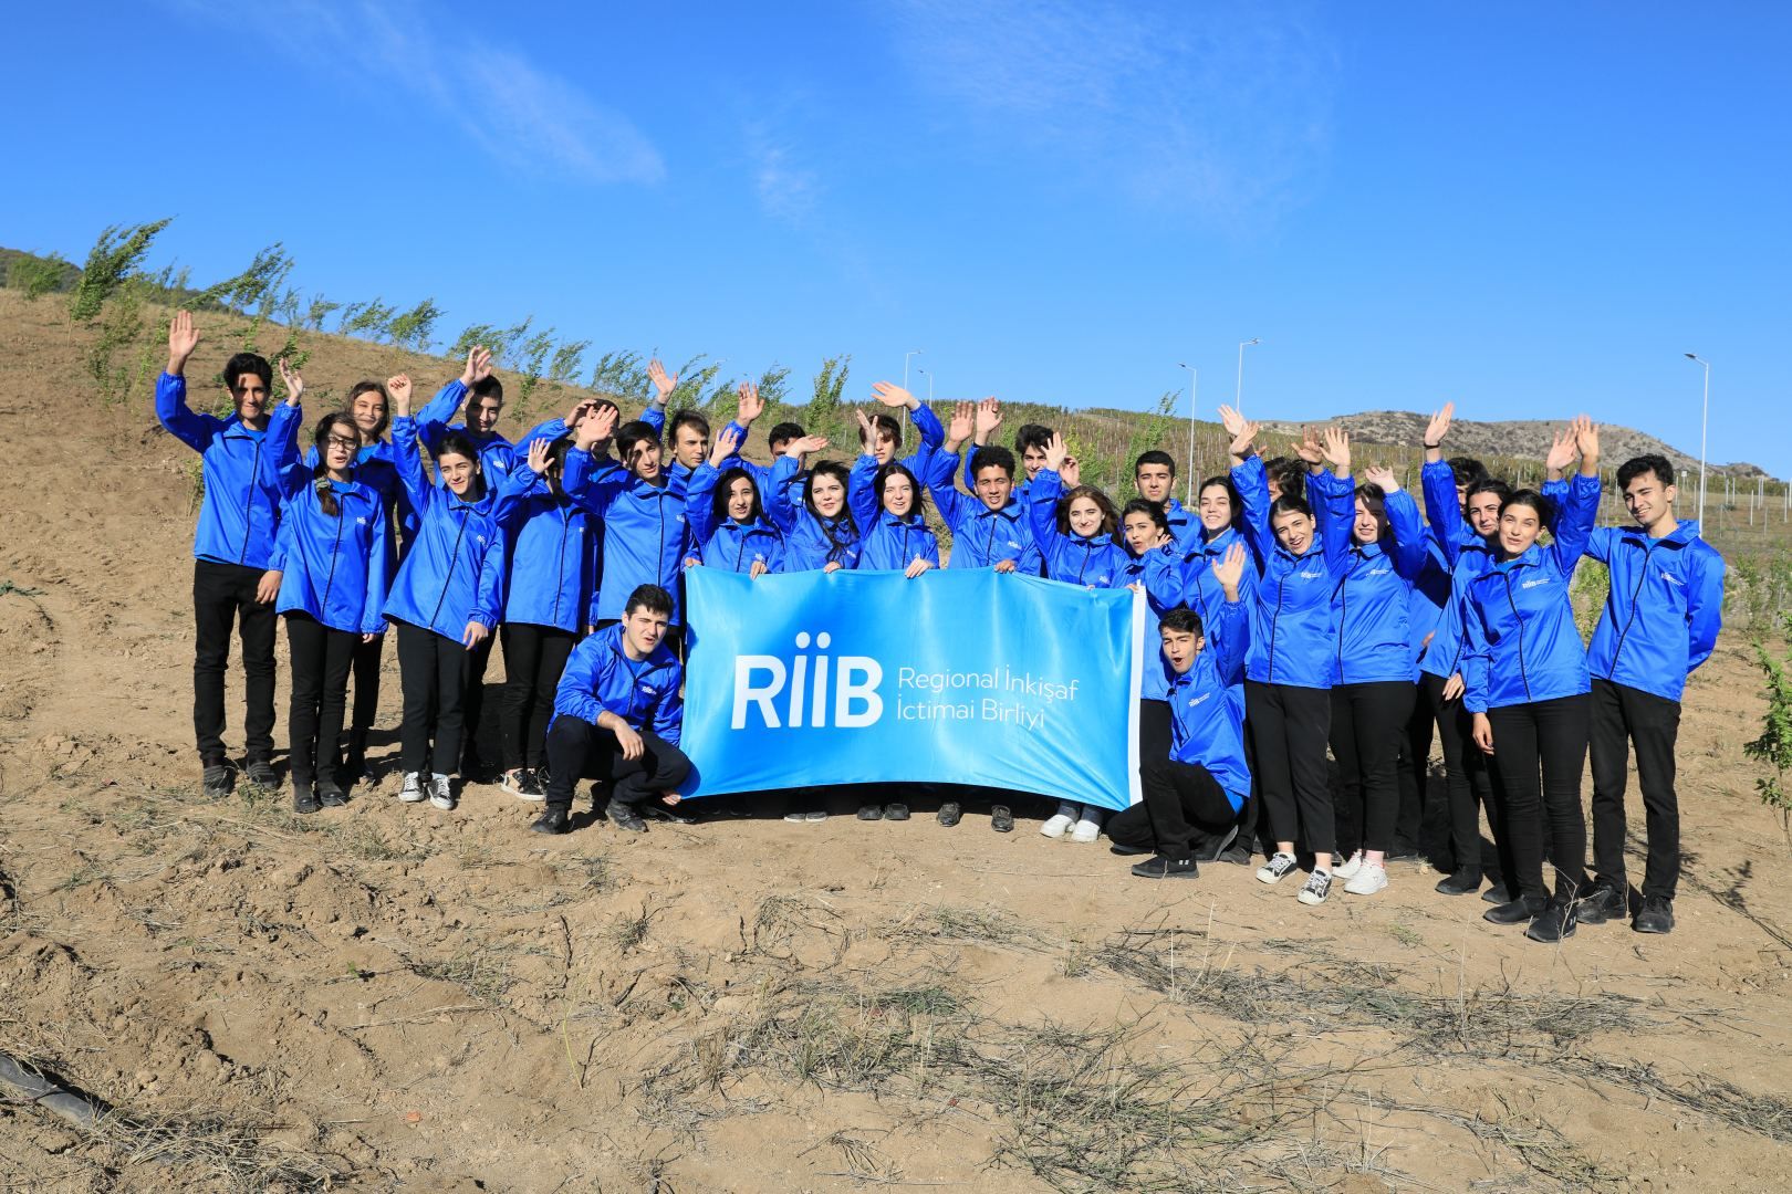
<svg viewBox="0 0 1792 1194">
<path fill-rule="evenodd" d="M 1331 591 L 1349 562 L 1353 485 L 1330 473 L 1310 474 L 1319 526 L 1306 555 L 1294 555 L 1269 525 L 1269 476 L 1253 456 L 1233 465 L 1244 505 L 1245 539 L 1258 571 L 1251 603 L 1251 652 L 1245 677 L 1260 684 L 1331 687 L 1337 669 L 1331 632 Z"/>
</svg>

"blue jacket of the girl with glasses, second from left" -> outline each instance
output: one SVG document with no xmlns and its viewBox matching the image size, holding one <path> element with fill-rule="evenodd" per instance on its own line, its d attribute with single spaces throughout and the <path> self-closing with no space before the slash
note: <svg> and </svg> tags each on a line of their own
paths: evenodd
<svg viewBox="0 0 1792 1194">
<path fill-rule="evenodd" d="M 280 614 L 310 614 L 332 630 L 383 634 L 387 562 L 385 503 L 371 485 L 332 482 L 337 514 L 324 514 L 314 474 L 287 465 L 287 499 L 267 569 L 280 573 Z"/>
</svg>

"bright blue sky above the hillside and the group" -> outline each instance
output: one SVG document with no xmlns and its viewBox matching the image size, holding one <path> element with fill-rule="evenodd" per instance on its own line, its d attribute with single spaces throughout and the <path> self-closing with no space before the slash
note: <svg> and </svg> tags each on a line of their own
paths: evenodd
<svg viewBox="0 0 1792 1194">
<path fill-rule="evenodd" d="M 609 11 L 616 9 L 616 11 Z M 11 14 L 0 243 L 285 242 L 849 396 L 1588 410 L 1792 474 L 1792 14 L 1770 4 L 303 4 Z M 100 38 L 100 39 L 97 39 Z M 106 55 L 108 66 L 81 63 Z M 108 79 L 106 73 L 111 72 Z M 1776 82 L 1778 79 L 1778 82 Z M 29 97 L 29 104 L 27 98 Z M 912 378 L 925 394 L 925 376 Z"/>
</svg>

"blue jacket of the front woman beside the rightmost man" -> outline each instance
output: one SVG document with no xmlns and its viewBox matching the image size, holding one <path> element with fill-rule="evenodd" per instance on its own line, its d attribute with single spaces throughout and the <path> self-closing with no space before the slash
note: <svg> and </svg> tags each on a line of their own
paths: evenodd
<svg viewBox="0 0 1792 1194">
<path fill-rule="evenodd" d="M 1468 584 L 1462 704 L 1469 712 L 1591 691 L 1570 584 L 1598 517 L 1598 489 L 1597 476 L 1575 474 L 1554 541 L 1495 560 Z"/>
</svg>

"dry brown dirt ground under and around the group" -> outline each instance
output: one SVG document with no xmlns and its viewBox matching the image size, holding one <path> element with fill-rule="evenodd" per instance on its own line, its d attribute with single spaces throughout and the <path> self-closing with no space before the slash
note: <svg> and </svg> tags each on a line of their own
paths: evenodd
<svg viewBox="0 0 1792 1194">
<path fill-rule="evenodd" d="M 496 788 L 394 800 L 391 650 L 378 780 L 301 820 L 199 797 L 192 453 L 70 381 L 81 347 L 0 294 L 0 1053 L 116 1110 L 0 1101 L 4 1190 L 1787 1189 L 1740 637 L 1688 689 L 1665 938 L 1534 945 L 1417 865 L 1319 909 L 1150 884 L 975 811 L 541 840 Z M 400 356 L 321 340 L 306 376 Z M 283 700 L 281 662 L 280 741 Z"/>
</svg>

